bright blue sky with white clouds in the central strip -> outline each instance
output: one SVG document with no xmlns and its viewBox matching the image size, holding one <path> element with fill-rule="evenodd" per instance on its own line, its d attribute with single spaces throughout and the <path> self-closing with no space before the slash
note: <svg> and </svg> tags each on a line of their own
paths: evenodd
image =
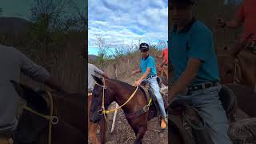
<svg viewBox="0 0 256 144">
<path fill-rule="evenodd" d="M 168 0 L 89 0 L 88 51 L 97 54 L 97 35 L 110 50 L 138 45 L 138 40 L 151 45 L 168 38 Z"/>
</svg>

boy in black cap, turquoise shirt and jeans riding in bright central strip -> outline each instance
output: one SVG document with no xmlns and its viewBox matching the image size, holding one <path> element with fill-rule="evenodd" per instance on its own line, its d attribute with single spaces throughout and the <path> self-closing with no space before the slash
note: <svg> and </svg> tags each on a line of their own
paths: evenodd
<svg viewBox="0 0 256 144">
<path fill-rule="evenodd" d="M 135 81 L 134 85 L 140 86 L 140 84 L 145 78 L 146 78 L 146 81 L 150 83 L 151 88 L 154 90 L 154 94 L 157 98 L 158 105 L 162 114 L 161 128 L 166 129 L 167 115 L 166 115 L 166 110 L 165 110 L 164 102 L 162 99 L 162 95 L 160 94 L 160 88 L 157 82 L 157 70 L 155 67 L 154 58 L 149 54 L 150 46 L 146 43 L 142 43 L 139 46 L 139 50 L 141 50 L 141 53 L 142 53 L 141 68 L 138 70 L 134 70 L 132 72 L 132 75 L 142 72 L 142 77 L 139 78 L 138 81 Z"/>
</svg>

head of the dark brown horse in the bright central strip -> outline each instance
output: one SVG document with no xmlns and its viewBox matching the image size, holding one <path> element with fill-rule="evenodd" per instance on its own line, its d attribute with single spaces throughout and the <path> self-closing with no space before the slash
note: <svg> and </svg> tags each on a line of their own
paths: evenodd
<svg viewBox="0 0 256 144">
<path fill-rule="evenodd" d="M 114 101 L 114 92 L 110 89 L 110 85 L 106 85 L 102 78 L 98 78 L 92 75 L 96 84 L 93 90 L 93 98 L 90 106 L 90 121 L 97 123 L 103 118 L 102 112 L 102 100 L 103 100 L 103 90 L 104 90 L 104 106 L 110 105 Z"/>
</svg>

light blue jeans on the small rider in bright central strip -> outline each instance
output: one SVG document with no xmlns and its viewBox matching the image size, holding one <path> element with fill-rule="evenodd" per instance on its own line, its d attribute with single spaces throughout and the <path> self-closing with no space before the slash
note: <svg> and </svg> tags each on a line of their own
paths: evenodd
<svg viewBox="0 0 256 144">
<path fill-rule="evenodd" d="M 151 88 L 154 90 L 154 95 L 157 98 L 158 101 L 158 105 L 161 111 L 161 114 L 164 118 L 166 118 L 167 114 L 166 114 L 166 110 L 165 110 L 165 106 L 164 106 L 164 102 L 162 100 L 162 95 L 160 94 L 160 87 L 158 86 L 158 81 L 156 77 L 153 78 L 148 78 L 146 79 L 147 82 L 150 82 L 150 86 Z"/>
</svg>

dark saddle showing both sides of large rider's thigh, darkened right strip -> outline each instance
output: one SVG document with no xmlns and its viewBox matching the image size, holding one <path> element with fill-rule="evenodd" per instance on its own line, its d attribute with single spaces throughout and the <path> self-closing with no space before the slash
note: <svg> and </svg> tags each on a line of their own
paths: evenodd
<svg viewBox="0 0 256 144">
<path fill-rule="evenodd" d="M 226 114 L 234 114 L 237 99 L 233 91 L 227 86 L 222 86 L 219 98 Z M 183 143 L 213 143 L 202 118 L 198 114 L 198 110 L 186 100 L 175 100 L 171 103 L 169 119 L 170 127 L 178 130 L 178 133 L 182 136 Z"/>
</svg>

